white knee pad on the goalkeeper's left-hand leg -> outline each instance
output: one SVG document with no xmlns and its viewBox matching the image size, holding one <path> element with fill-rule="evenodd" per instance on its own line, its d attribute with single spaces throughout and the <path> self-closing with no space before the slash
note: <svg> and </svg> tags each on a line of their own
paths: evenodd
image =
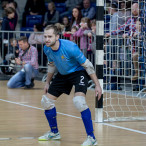
<svg viewBox="0 0 146 146">
<path fill-rule="evenodd" d="M 50 110 L 55 107 L 55 100 L 48 98 L 46 95 L 43 95 L 41 105 L 44 110 Z"/>
</svg>

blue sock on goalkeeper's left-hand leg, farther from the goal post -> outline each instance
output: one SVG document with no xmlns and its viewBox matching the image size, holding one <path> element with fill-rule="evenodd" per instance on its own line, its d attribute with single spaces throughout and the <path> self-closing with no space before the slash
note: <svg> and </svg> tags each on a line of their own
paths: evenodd
<svg viewBox="0 0 146 146">
<path fill-rule="evenodd" d="M 57 133 L 58 128 L 57 128 L 57 113 L 56 113 L 56 108 L 54 107 L 53 109 L 50 110 L 45 110 L 45 115 L 48 120 L 49 126 L 51 128 L 51 132 Z"/>
</svg>

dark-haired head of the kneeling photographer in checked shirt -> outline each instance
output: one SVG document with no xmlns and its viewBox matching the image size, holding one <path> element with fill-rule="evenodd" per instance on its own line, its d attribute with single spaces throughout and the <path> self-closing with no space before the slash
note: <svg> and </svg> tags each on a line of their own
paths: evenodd
<svg viewBox="0 0 146 146">
<path fill-rule="evenodd" d="M 28 39 L 26 36 L 21 36 L 18 39 L 18 44 L 19 44 L 19 48 L 21 48 L 22 50 L 26 50 L 29 47 Z"/>
</svg>

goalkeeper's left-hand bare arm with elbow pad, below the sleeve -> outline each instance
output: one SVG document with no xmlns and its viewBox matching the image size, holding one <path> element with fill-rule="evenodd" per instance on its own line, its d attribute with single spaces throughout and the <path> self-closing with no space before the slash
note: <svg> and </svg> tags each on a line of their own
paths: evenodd
<svg viewBox="0 0 146 146">
<path fill-rule="evenodd" d="M 45 85 L 45 88 L 44 88 L 45 93 L 48 92 L 49 85 L 50 85 L 50 82 L 53 78 L 55 69 L 56 69 L 56 67 L 55 67 L 54 63 L 53 62 L 48 62 L 48 74 L 47 74 L 47 79 L 46 79 L 46 85 Z"/>
</svg>

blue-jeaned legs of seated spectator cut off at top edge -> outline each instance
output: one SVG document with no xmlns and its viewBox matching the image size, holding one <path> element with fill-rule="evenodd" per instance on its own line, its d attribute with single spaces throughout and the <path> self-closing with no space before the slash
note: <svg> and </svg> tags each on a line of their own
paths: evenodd
<svg viewBox="0 0 146 146">
<path fill-rule="evenodd" d="M 65 5 L 67 10 L 60 14 L 60 20 L 64 16 L 70 16 L 72 14 L 73 8 L 75 8 L 77 5 L 80 5 L 82 3 L 82 0 L 66 0 Z"/>
</svg>

